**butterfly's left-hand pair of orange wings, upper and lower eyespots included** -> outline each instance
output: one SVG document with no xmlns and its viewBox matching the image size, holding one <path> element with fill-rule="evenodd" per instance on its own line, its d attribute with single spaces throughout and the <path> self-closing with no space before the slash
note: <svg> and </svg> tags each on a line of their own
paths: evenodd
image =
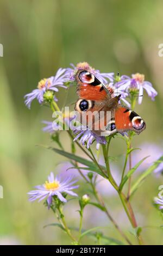
<svg viewBox="0 0 163 256">
<path fill-rule="evenodd" d="M 87 70 L 77 71 L 76 82 L 79 99 L 75 110 L 80 114 L 77 120 L 90 130 L 99 130 L 99 113 L 104 112 L 105 106 L 108 105 L 111 98 L 109 90 Z M 105 120 L 105 117 L 102 118 Z"/>
</svg>

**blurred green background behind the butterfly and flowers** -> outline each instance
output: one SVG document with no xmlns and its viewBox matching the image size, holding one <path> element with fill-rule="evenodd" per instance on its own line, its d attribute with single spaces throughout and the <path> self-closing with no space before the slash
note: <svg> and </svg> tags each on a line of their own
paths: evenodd
<svg viewBox="0 0 163 256">
<path fill-rule="evenodd" d="M 51 112 L 36 101 L 29 111 L 23 99 L 41 78 L 54 75 L 60 66 L 86 61 L 102 72 L 145 74 L 158 96 L 153 102 L 145 94 L 142 105 L 136 106 L 136 112 L 147 122 L 147 129 L 134 138 L 134 147 L 148 143 L 150 147 L 145 147 L 142 154 L 158 158 L 153 148 L 162 150 L 163 57 L 158 55 L 158 46 L 163 43 L 162 8 L 161 0 L 1 0 L 0 43 L 4 47 L 0 58 L 0 185 L 4 189 L 4 198 L 0 199 L 1 244 L 70 244 L 57 227 L 43 228 L 56 221 L 52 212 L 42 203 L 29 203 L 27 197 L 27 192 L 43 183 L 51 170 L 62 172 L 66 168 L 66 163 L 61 164 L 66 159 L 35 146 L 52 143 L 49 135 L 41 131 L 41 120 L 51 120 Z M 61 107 L 65 104 L 64 89 L 60 89 L 58 97 Z M 66 103 L 74 100 L 75 89 L 69 92 Z M 68 150 L 70 141 L 64 132 L 61 141 Z M 111 150 L 112 156 L 124 154 L 123 141 L 115 139 Z M 121 173 L 121 164 L 114 165 L 115 173 Z M 116 193 L 102 182 L 99 190 L 108 208 L 131 240 L 134 239 Z M 133 198 L 136 217 L 143 227 L 163 223 L 152 204 L 162 184 L 161 175 L 152 175 Z M 80 181 L 79 195 L 87 189 Z M 78 209 L 77 201 L 65 206 L 70 225 L 78 224 Z M 84 217 L 84 227 L 107 226 L 110 228 L 102 230 L 105 234 L 121 239 L 101 211 L 88 206 Z M 142 235 L 148 244 L 163 245 L 161 229 L 146 227 Z M 84 244 L 92 242 L 91 238 L 83 240 Z"/>
</svg>

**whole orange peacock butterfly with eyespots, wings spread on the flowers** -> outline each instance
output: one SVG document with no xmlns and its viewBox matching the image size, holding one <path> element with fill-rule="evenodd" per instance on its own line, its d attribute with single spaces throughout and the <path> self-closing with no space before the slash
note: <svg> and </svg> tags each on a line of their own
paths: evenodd
<svg viewBox="0 0 163 256">
<path fill-rule="evenodd" d="M 145 129 L 145 121 L 138 114 L 118 103 L 121 95 L 112 96 L 111 89 L 89 71 L 78 70 L 76 82 L 79 99 L 75 110 L 80 114 L 80 123 L 97 135 L 126 131 L 139 134 Z"/>
</svg>

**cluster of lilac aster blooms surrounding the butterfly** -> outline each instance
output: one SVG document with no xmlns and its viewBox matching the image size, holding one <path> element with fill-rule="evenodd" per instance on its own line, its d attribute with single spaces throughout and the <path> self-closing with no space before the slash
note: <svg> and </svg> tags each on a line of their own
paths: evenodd
<svg viewBox="0 0 163 256">
<path fill-rule="evenodd" d="M 39 103 L 51 102 L 52 100 L 57 101 L 55 93 L 58 92 L 58 87 L 67 88 L 67 83 L 75 81 L 75 75 L 78 70 L 87 70 L 91 74 L 95 75 L 99 81 L 101 81 L 110 91 L 111 96 L 115 97 L 121 94 L 121 101 L 130 107 L 130 103 L 125 99 L 130 97 L 132 93 L 136 93 L 138 96 L 138 102 L 142 102 L 143 89 L 146 90 L 148 96 L 154 100 L 154 97 L 157 95 L 156 90 L 152 87 L 152 84 L 148 81 L 145 81 L 145 76 L 139 73 L 131 75 L 131 77 L 122 75 L 121 77 L 115 77 L 114 72 L 101 73 L 99 70 L 92 68 L 88 63 L 78 63 L 76 66 L 71 64 L 71 68 L 59 69 L 55 76 L 43 79 L 39 82 L 37 89 L 33 90 L 32 93 L 26 94 L 25 103 L 28 108 L 32 101 L 36 98 Z M 56 130 L 59 130 L 60 125 L 55 124 L 53 121 L 43 121 L 46 124 L 43 127 L 43 131 L 53 133 Z M 67 123 L 67 122 L 66 122 Z M 70 121 L 68 120 L 68 126 Z M 89 148 L 93 141 L 97 142 L 97 149 L 99 144 L 105 144 L 106 140 L 102 136 L 97 136 L 95 132 L 90 130 L 83 130 L 78 132 L 74 129 L 74 133 L 77 134 L 74 140 L 79 139 L 79 142 L 83 145 L 86 144 L 86 147 Z"/>
</svg>

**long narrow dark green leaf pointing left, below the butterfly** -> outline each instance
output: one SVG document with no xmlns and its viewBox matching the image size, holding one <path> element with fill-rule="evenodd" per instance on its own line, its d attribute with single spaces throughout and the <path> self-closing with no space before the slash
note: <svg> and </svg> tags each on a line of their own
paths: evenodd
<svg viewBox="0 0 163 256">
<path fill-rule="evenodd" d="M 96 172 L 96 173 L 102 175 L 104 178 L 106 177 L 106 176 L 104 175 L 104 173 L 102 173 L 102 171 L 96 166 L 95 163 L 93 163 L 93 162 L 91 162 L 91 161 L 89 161 L 89 160 L 87 160 L 87 159 L 84 159 L 83 157 L 76 156 L 76 155 L 71 154 L 71 153 L 68 153 L 68 152 L 66 152 L 66 151 L 64 151 L 64 150 L 60 150 L 60 149 L 56 149 L 56 148 L 52 148 L 52 147 L 47 147 L 47 146 L 46 146 L 46 148 L 51 149 L 51 150 L 53 150 L 55 153 L 58 153 L 58 154 L 60 154 L 60 155 L 62 155 L 62 156 L 65 156 L 65 157 L 67 157 L 68 159 L 74 160 L 74 161 L 76 161 L 76 162 L 78 162 L 78 163 L 82 163 L 82 164 L 84 164 L 85 166 L 89 167 L 88 169 L 89 169 L 89 170 L 92 170 L 92 172 Z M 105 169 L 104 166 L 101 166 L 101 167 L 102 167 L 103 169 Z M 82 168 L 82 169 L 83 169 L 83 168 Z"/>
</svg>

